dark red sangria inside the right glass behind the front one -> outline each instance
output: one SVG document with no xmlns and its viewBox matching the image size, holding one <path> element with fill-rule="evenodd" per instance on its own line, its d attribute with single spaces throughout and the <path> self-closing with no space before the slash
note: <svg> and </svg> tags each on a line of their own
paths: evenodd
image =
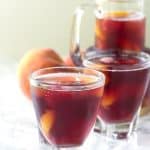
<svg viewBox="0 0 150 150">
<path fill-rule="evenodd" d="M 92 61 L 101 64 L 101 71 L 106 75 L 106 85 L 104 96 L 100 102 L 99 116 L 107 123 L 131 121 L 144 98 L 150 75 L 149 68 L 128 71 L 131 66 L 143 61 L 132 55 L 130 57 L 118 55 L 103 57 Z M 121 66 L 124 66 L 126 70 L 121 70 Z"/>
</svg>

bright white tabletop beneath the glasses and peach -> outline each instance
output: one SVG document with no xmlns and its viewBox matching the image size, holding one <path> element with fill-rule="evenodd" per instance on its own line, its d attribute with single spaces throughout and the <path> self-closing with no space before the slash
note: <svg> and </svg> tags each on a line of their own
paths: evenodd
<svg viewBox="0 0 150 150">
<path fill-rule="evenodd" d="M 102 135 L 92 132 L 80 150 L 150 150 L 150 116 L 140 119 L 137 136 L 128 142 L 105 145 Z M 50 150 L 39 145 L 36 119 L 29 101 L 18 87 L 15 67 L 0 66 L 0 150 Z M 71 149 L 69 149 L 71 150 Z"/>
</svg>

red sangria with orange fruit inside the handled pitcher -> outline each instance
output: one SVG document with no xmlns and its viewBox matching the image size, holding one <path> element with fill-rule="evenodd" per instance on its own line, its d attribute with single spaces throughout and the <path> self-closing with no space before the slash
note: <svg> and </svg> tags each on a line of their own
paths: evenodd
<svg viewBox="0 0 150 150">
<path fill-rule="evenodd" d="M 95 47 L 140 51 L 144 48 L 145 18 L 141 14 L 114 12 L 96 18 Z"/>
</svg>

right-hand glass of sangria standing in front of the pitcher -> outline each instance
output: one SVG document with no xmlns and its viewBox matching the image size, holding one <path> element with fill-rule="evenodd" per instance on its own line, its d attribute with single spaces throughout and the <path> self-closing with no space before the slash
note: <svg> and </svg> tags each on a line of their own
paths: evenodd
<svg viewBox="0 0 150 150">
<path fill-rule="evenodd" d="M 101 52 L 85 59 L 83 65 L 106 76 L 100 100 L 99 118 L 106 135 L 128 139 L 133 135 L 150 76 L 150 55 L 144 52 Z"/>
</svg>

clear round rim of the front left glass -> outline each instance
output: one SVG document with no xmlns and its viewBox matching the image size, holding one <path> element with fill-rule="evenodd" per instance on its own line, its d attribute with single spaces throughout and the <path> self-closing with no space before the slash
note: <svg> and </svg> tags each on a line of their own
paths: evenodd
<svg viewBox="0 0 150 150">
<path fill-rule="evenodd" d="M 64 70 L 65 69 L 65 70 Z M 54 70 L 54 71 L 53 71 Z M 57 71 L 56 71 L 57 70 Z M 87 74 L 84 71 L 89 71 L 90 73 Z M 44 73 L 44 71 L 47 71 L 47 73 Z M 49 72 L 48 72 L 49 71 Z M 51 72 L 50 72 L 51 71 Z M 56 72 L 55 72 L 56 71 Z M 65 72 L 68 71 L 68 72 Z M 64 84 L 61 82 L 46 82 L 46 81 L 41 81 L 39 80 L 39 76 L 41 75 L 40 73 L 43 72 L 43 75 L 48 75 L 48 74 L 57 74 L 57 73 L 77 73 L 77 74 L 85 74 L 85 75 L 92 75 L 96 77 L 96 80 L 93 82 L 88 82 L 84 84 Z M 56 85 L 61 86 L 61 89 L 58 89 L 59 91 L 64 91 L 64 90 L 71 90 L 71 91 L 80 91 L 80 90 L 87 90 L 91 88 L 96 88 L 96 87 L 102 87 L 105 84 L 105 75 L 97 71 L 95 69 L 90 69 L 86 67 L 68 67 L 68 66 L 60 66 L 60 67 L 48 67 L 48 68 L 43 68 L 43 69 L 38 69 L 34 71 L 30 77 L 30 85 L 33 86 L 39 86 L 41 88 L 53 88 Z"/>
</svg>

